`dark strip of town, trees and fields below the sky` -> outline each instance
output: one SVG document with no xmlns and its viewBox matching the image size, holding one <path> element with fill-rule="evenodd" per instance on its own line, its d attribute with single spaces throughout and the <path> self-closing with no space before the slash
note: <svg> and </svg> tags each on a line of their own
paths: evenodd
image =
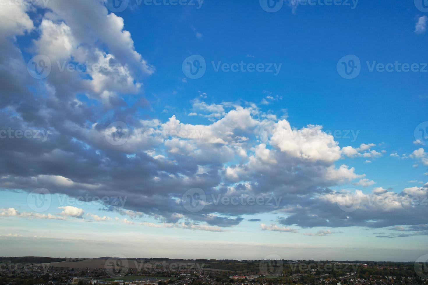
<svg viewBox="0 0 428 285">
<path fill-rule="evenodd" d="M 414 262 L 0 259 L 0 285 L 428 284 L 426 264 Z"/>
</svg>

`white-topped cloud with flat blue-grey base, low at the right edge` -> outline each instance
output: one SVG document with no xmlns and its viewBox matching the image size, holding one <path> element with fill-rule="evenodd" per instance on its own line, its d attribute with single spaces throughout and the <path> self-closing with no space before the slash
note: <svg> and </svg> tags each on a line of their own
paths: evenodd
<svg viewBox="0 0 428 285">
<path fill-rule="evenodd" d="M 428 223 L 426 197 L 428 187 L 405 188 L 401 193 L 375 188 L 372 194 L 360 190 L 320 194 L 310 202 L 285 210 L 281 218 L 286 226 L 367 226 L 379 228 Z"/>
</svg>

